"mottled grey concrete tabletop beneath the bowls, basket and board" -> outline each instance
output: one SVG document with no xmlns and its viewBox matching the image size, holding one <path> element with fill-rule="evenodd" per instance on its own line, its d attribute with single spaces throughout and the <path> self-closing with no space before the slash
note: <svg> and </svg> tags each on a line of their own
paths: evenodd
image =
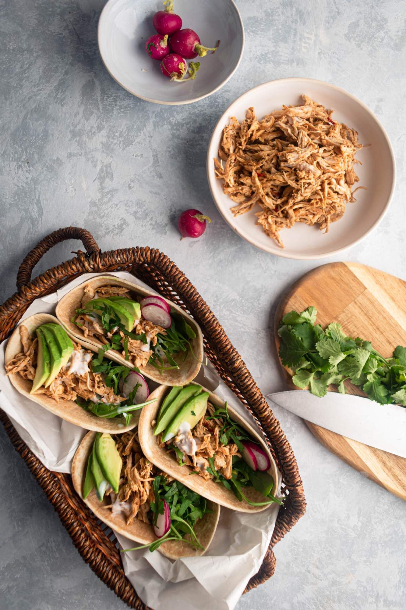
<svg viewBox="0 0 406 610">
<path fill-rule="evenodd" d="M 27 251 L 60 226 L 89 229 L 102 249 L 154 246 L 196 285 L 263 392 L 283 389 L 274 308 L 288 285 L 327 261 L 272 257 L 233 234 L 208 192 L 208 139 L 229 103 L 263 81 L 308 76 L 351 91 L 388 131 L 398 174 L 385 220 L 344 260 L 404 277 L 405 4 L 239 0 L 246 49 L 238 73 L 184 107 L 140 101 L 110 78 L 96 42 L 103 4 L 0 3 L 0 301 L 15 290 Z M 212 224 L 203 239 L 180 243 L 176 219 L 186 207 Z M 57 246 L 37 271 L 78 247 Z M 297 456 L 308 512 L 277 545 L 274 577 L 241 598 L 238 610 L 404 608 L 405 504 L 325 450 L 301 420 L 282 410 L 277 416 Z M 0 608 L 123 608 L 77 554 L 2 429 L 0 437 Z"/>
</svg>

